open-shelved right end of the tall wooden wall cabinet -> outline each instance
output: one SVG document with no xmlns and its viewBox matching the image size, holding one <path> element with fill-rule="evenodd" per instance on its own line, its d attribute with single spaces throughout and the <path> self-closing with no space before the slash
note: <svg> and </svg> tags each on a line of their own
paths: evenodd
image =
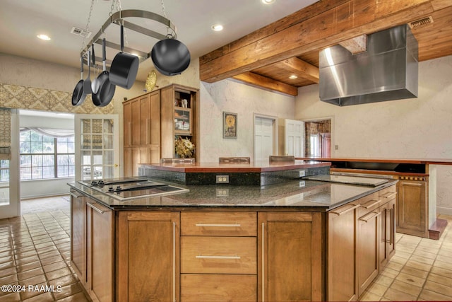
<svg viewBox="0 0 452 302">
<path fill-rule="evenodd" d="M 161 88 L 160 105 L 162 158 L 176 157 L 174 139 L 177 137 L 190 139 L 198 147 L 198 89 L 181 85 Z M 194 156 L 196 161 L 199 159 L 198 150 L 197 148 Z"/>
</svg>

